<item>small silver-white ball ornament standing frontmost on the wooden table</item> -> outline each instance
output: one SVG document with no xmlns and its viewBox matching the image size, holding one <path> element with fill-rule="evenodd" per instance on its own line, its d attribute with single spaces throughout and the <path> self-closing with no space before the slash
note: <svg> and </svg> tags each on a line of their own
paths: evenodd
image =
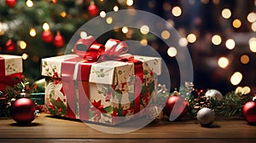
<svg viewBox="0 0 256 143">
<path fill-rule="evenodd" d="M 215 113 L 212 109 L 203 107 L 199 112 L 197 112 L 196 118 L 202 126 L 211 125 L 215 120 Z"/>
</svg>

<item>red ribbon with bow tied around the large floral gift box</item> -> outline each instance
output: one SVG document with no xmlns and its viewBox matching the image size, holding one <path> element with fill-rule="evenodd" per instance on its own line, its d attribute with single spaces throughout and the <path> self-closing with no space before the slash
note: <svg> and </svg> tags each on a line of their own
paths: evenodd
<svg viewBox="0 0 256 143">
<path fill-rule="evenodd" d="M 87 49 L 87 50 L 84 50 Z M 79 89 L 79 117 L 82 120 L 88 120 L 88 110 L 90 103 L 89 92 L 89 77 L 90 67 L 92 64 L 102 60 L 120 60 L 133 62 L 135 64 L 135 75 L 137 77 L 135 83 L 135 113 L 140 111 L 140 91 L 141 83 L 143 83 L 143 63 L 139 60 L 134 60 L 132 54 L 126 54 L 129 50 L 124 42 L 119 40 L 109 39 L 104 45 L 96 43 L 94 37 L 89 36 L 84 39 L 79 39 L 74 45 L 73 52 L 79 55 L 79 58 L 65 60 L 61 64 L 61 78 L 64 92 L 67 93 L 67 117 L 75 118 L 76 100 L 74 97 L 75 86 L 73 74 L 77 74 L 78 89 Z M 77 73 L 73 72 L 75 65 L 79 62 Z M 85 93 L 85 94 L 84 94 Z"/>
</svg>

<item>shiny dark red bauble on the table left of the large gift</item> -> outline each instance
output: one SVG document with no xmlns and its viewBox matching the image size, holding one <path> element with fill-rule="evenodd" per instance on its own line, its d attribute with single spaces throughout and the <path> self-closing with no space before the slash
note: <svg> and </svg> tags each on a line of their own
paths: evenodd
<svg viewBox="0 0 256 143">
<path fill-rule="evenodd" d="M 10 114 L 17 123 L 31 123 L 35 119 L 37 106 L 28 98 L 15 100 L 12 105 Z"/>
</svg>

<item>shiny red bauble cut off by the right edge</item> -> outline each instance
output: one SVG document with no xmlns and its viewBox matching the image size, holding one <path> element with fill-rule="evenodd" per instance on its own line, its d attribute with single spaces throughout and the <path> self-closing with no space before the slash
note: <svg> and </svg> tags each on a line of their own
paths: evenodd
<svg viewBox="0 0 256 143">
<path fill-rule="evenodd" d="M 256 124 L 256 96 L 242 107 L 242 113 L 247 123 Z"/>
</svg>

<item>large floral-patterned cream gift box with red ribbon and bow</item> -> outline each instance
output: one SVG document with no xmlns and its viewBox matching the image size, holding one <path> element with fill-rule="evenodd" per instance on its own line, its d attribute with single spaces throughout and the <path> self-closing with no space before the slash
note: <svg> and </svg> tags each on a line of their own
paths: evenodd
<svg viewBox="0 0 256 143">
<path fill-rule="evenodd" d="M 42 59 L 47 112 L 107 124 L 143 116 L 140 112 L 155 93 L 161 59 L 123 52 L 110 56 L 113 49 L 126 47 L 119 43 L 113 39 L 105 45 L 85 41 L 82 44 L 90 47 L 86 52 L 76 49 L 76 44 L 74 54 Z"/>
</svg>

